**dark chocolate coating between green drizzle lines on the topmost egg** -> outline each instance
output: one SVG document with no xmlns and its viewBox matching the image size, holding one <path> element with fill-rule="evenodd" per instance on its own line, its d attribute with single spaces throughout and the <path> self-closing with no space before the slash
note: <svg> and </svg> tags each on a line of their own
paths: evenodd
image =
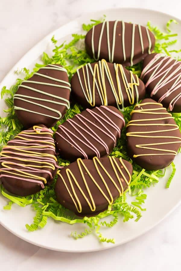
<svg viewBox="0 0 181 271">
<path fill-rule="evenodd" d="M 115 21 L 109 21 L 109 41 L 110 41 L 110 52 L 112 52 L 113 47 L 113 29 L 114 29 Z M 100 39 L 100 33 L 103 23 L 100 23 L 94 27 L 94 51 L 95 51 L 95 59 L 97 60 L 98 55 L 98 44 Z M 91 58 L 93 57 L 93 48 L 92 48 L 92 31 L 93 29 L 89 30 L 85 37 L 85 47 L 87 53 L 90 55 Z M 124 66 L 130 66 L 131 63 L 131 55 L 132 55 L 132 31 L 133 31 L 133 24 L 132 23 L 125 23 L 125 34 L 122 33 L 122 21 L 118 21 L 116 25 L 116 34 L 115 34 L 115 48 L 114 48 L 114 55 L 113 61 L 109 59 L 108 53 L 108 42 L 107 42 L 107 30 L 106 24 L 103 29 L 102 41 L 100 46 L 100 57 L 99 59 L 106 59 L 109 62 L 116 62 L 120 64 L 124 64 Z M 154 34 L 149 31 L 149 36 L 151 39 L 151 49 L 153 51 L 155 45 L 155 38 Z M 135 38 L 134 38 L 134 52 L 133 52 L 133 64 L 136 64 L 142 61 L 148 55 L 149 49 L 149 40 L 148 35 L 146 32 L 146 27 L 141 26 L 141 34 L 143 40 L 143 51 L 141 47 L 141 39 L 139 34 L 138 25 L 135 25 Z M 124 43 L 122 42 L 122 36 L 124 37 Z M 125 60 L 123 54 L 123 47 L 125 44 Z"/>
</svg>

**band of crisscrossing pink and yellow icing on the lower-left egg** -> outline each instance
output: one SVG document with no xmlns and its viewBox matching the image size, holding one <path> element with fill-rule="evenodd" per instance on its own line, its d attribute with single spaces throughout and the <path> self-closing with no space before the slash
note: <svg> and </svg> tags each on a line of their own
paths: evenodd
<svg viewBox="0 0 181 271">
<path fill-rule="evenodd" d="M 41 136 L 36 136 L 37 134 Z M 41 173 L 42 175 L 43 173 L 48 173 L 50 179 L 53 178 L 51 171 L 56 168 L 57 158 L 47 151 L 53 151 L 55 154 L 55 144 L 52 137 L 46 136 L 52 136 L 52 134 L 51 129 L 33 126 L 33 130 L 22 131 L 13 140 L 10 140 L 8 143 L 18 145 L 6 145 L 2 149 L 0 153 L 0 178 L 8 177 L 27 182 L 36 182 L 44 188 L 44 184 L 47 182 L 46 179 L 37 176 L 36 173 Z M 40 151 L 43 151 L 43 153 Z M 21 164 L 20 161 L 27 164 Z M 20 169 L 17 167 L 20 167 Z M 48 168 L 51 171 L 44 168 Z M 34 174 L 32 174 L 33 171 Z"/>
</svg>

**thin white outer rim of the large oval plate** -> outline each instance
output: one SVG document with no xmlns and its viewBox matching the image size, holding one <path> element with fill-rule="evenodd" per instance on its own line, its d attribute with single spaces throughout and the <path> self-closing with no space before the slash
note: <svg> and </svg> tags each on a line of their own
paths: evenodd
<svg viewBox="0 0 181 271">
<path fill-rule="evenodd" d="M 12 73 L 14 73 L 14 70 L 16 70 L 16 67 L 21 63 L 21 61 L 23 61 L 24 58 L 27 58 L 28 55 L 30 55 L 38 46 L 40 46 L 40 44 L 43 44 L 44 42 L 48 41 L 50 42 L 51 40 L 51 37 L 53 35 L 56 35 L 56 33 L 63 27 L 67 27 L 70 23 L 79 23 L 80 20 L 84 20 L 85 17 L 89 16 L 89 18 L 93 15 L 96 15 L 97 13 L 106 13 L 108 11 L 115 11 L 115 10 L 132 10 L 132 11 L 135 11 L 135 10 L 139 10 L 139 11 L 149 11 L 149 12 L 152 12 L 152 13 L 157 13 L 157 14 L 160 14 L 160 15 L 166 15 L 166 16 L 170 16 L 172 19 L 175 19 L 177 20 L 179 23 L 181 23 L 181 19 L 179 19 L 178 17 L 175 17 L 169 13 L 166 13 L 166 12 L 162 12 L 162 11 L 157 11 L 157 10 L 154 10 L 154 9 L 149 9 L 149 8 L 138 8 L 138 7 L 132 7 L 132 8 L 129 8 L 129 7 L 117 7 L 117 8 L 106 8 L 106 9 L 103 9 L 103 10 L 98 10 L 96 12 L 85 12 L 83 15 L 81 16 L 78 16 L 77 18 L 75 18 L 74 20 L 70 20 L 68 23 L 65 23 L 65 24 L 62 24 L 60 27 L 58 27 L 56 30 L 53 30 L 51 31 L 48 35 L 46 35 L 43 39 L 41 39 L 39 42 L 37 42 L 32 48 L 30 48 L 27 53 L 25 53 L 21 58 L 20 60 L 9 70 L 9 72 L 4 76 L 4 78 L 2 79 L 2 81 L 0 82 L 0 89 L 2 88 L 2 86 L 4 85 L 4 81 L 6 81 L 6 79 L 8 78 L 8 76 L 10 76 Z M 16 76 L 17 77 L 17 76 Z M 10 84 L 11 85 L 11 84 Z M 1 98 L 0 98 L 0 101 L 1 101 Z M 156 223 L 153 223 L 150 227 L 148 227 L 147 229 L 143 230 L 141 233 L 139 233 L 138 235 L 136 235 L 134 238 L 130 238 L 130 239 L 127 239 L 126 241 L 122 242 L 121 244 L 120 243 L 116 243 L 116 244 L 113 244 L 113 246 L 111 247 L 105 247 L 105 248 L 97 248 L 97 249 L 87 249 L 87 250 L 78 250 L 78 251 L 75 251 L 75 250 L 63 250 L 63 249 L 57 249 L 57 248 L 52 248 L 51 246 L 47 245 L 47 246 L 44 246 L 44 245 L 41 245 L 39 244 L 38 242 L 35 242 L 35 241 L 31 241 L 29 240 L 28 238 L 26 237 L 22 237 L 21 235 L 19 235 L 17 232 L 14 232 L 13 229 L 9 228 L 7 225 L 5 225 L 2 221 L 1 221 L 1 218 L 0 218 L 0 224 L 5 228 L 7 229 L 9 232 L 11 232 L 12 234 L 14 234 L 15 236 L 17 236 L 18 238 L 20 238 L 21 240 L 24 240 L 32 245 L 36 245 L 40 248 L 46 248 L 46 249 L 49 249 L 49 250 L 52 250 L 52 251 L 61 251 L 61 252 L 69 252 L 69 253 L 82 253 L 82 252 L 93 252 L 93 251 L 102 251 L 102 250 L 106 250 L 106 249 L 110 249 L 110 248 L 115 248 L 119 245 L 123 245 L 125 243 L 128 243 L 136 238 L 138 238 L 139 236 L 142 236 L 143 234 L 145 234 L 146 232 L 150 231 L 152 228 L 154 228 L 155 226 L 157 226 L 159 223 L 161 223 L 165 218 L 167 218 L 168 216 L 170 216 L 170 214 L 181 204 L 181 198 L 180 198 L 180 201 L 175 205 L 173 206 L 172 209 L 170 209 L 170 211 L 164 215 L 163 217 L 161 217 L 160 220 L 158 220 Z"/>
</svg>

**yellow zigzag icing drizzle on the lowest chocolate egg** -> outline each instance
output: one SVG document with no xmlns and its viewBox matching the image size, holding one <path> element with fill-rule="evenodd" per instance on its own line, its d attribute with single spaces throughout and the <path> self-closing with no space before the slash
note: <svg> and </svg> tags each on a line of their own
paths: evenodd
<svg viewBox="0 0 181 271">
<path fill-rule="evenodd" d="M 111 182 L 114 184 L 115 188 L 118 190 L 119 192 L 119 196 L 122 195 L 122 193 L 124 192 L 124 188 L 122 186 L 122 182 L 121 182 L 121 178 L 119 177 L 119 173 L 121 173 L 121 176 L 122 178 L 124 179 L 124 181 L 126 182 L 127 185 L 130 184 L 131 182 L 131 175 L 129 173 L 129 170 L 127 169 L 127 167 L 125 166 L 125 164 L 123 163 L 122 161 L 122 158 L 119 158 L 119 162 L 121 163 L 121 166 L 124 167 L 126 173 L 128 174 L 128 177 L 129 177 L 129 181 L 127 181 L 126 177 L 124 176 L 124 174 L 122 173 L 122 170 L 121 170 L 121 167 L 118 165 L 116 159 L 114 157 L 110 157 L 109 156 L 109 160 L 110 160 L 110 163 L 111 163 L 111 166 L 112 166 L 112 169 L 116 175 L 116 178 L 119 182 L 119 186 L 116 184 L 115 180 L 110 176 L 109 172 L 106 170 L 106 168 L 103 166 L 103 164 L 101 164 L 101 162 L 98 160 L 97 157 L 94 157 L 93 158 L 93 163 L 94 163 L 94 167 L 98 173 L 98 175 L 100 176 L 100 179 L 101 181 L 103 182 L 108 194 L 109 194 L 109 197 L 106 196 L 106 194 L 103 192 L 103 190 L 101 189 L 100 185 L 98 184 L 98 182 L 94 179 L 94 177 L 91 175 L 90 171 L 87 169 L 87 167 L 85 166 L 84 164 L 84 161 L 81 159 L 81 158 L 78 158 L 77 159 L 77 164 L 78 164 L 78 168 L 80 170 L 80 173 L 81 173 L 81 176 L 82 176 L 82 179 L 84 181 L 84 184 L 85 184 L 85 187 L 86 187 L 86 191 L 90 197 L 90 200 L 87 198 L 87 196 L 85 195 L 84 191 L 83 191 L 83 188 L 79 185 L 79 182 L 78 180 L 76 179 L 75 175 L 72 173 L 72 171 L 67 168 L 66 169 L 66 174 L 67 174 L 67 177 L 68 177 L 68 182 L 70 183 L 70 186 L 71 186 L 71 190 L 72 192 L 70 191 L 70 189 L 68 188 L 67 184 L 66 184 L 66 181 L 65 179 L 63 178 L 63 176 L 61 175 L 60 171 L 58 171 L 58 175 L 61 177 L 67 191 L 68 191 L 68 194 L 70 195 L 72 201 L 74 202 L 75 204 L 75 207 L 78 211 L 78 213 L 81 213 L 82 212 L 82 206 L 81 206 L 81 201 L 77 195 L 77 193 L 75 192 L 75 188 L 78 188 L 79 191 L 81 192 L 81 194 L 83 195 L 84 199 L 86 200 L 88 206 L 90 207 L 90 210 L 92 212 L 94 212 L 96 210 L 96 205 L 94 203 L 94 195 L 91 194 L 90 192 L 90 189 L 89 189 L 89 186 L 87 185 L 87 181 L 86 181 L 86 178 L 87 178 L 87 175 L 90 177 L 90 179 L 92 180 L 92 182 L 97 186 L 97 188 L 99 189 L 100 193 L 104 196 L 104 198 L 106 199 L 106 201 L 109 203 L 109 204 L 113 204 L 113 195 L 111 194 L 111 191 L 109 189 L 109 186 L 108 184 L 106 183 L 106 180 L 105 178 L 103 177 L 103 175 L 100 173 L 100 170 L 99 168 L 101 168 L 105 173 L 106 175 L 108 176 L 108 178 L 111 180 Z M 83 170 L 85 171 L 85 173 L 83 173 Z M 118 173 L 119 172 L 119 173 Z M 87 173 L 87 174 L 86 174 Z M 86 175 L 85 175 L 86 174 Z"/>
</svg>

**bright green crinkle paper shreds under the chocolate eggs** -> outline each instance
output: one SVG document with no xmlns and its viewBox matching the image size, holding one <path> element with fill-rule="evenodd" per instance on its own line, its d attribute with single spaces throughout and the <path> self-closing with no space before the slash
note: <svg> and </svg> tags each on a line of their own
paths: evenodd
<svg viewBox="0 0 181 271">
<path fill-rule="evenodd" d="M 105 16 L 101 20 L 91 20 L 90 24 L 83 24 L 83 30 L 89 31 L 92 26 L 101 23 L 105 20 Z M 179 53 L 180 49 L 178 50 L 169 50 L 168 48 L 176 43 L 176 39 L 170 40 L 170 38 L 176 37 L 177 34 L 172 34 L 170 30 L 170 24 L 176 23 L 175 20 L 169 20 L 166 24 L 166 31 L 167 33 L 161 32 L 157 27 L 152 26 L 150 22 L 148 22 L 148 28 L 154 33 L 156 38 L 156 44 L 154 48 L 154 52 L 160 53 L 165 52 L 167 55 L 170 55 L 172 52 Z M 65 42 L 58 45 L 58 41 L 55 37 L 52 37 L 52 43 L 54 44 L 54 49 L 52 51 L 52 55 L 49 56 L 47 53 L 43 52 L 42 54 L 42 61 L 43 64 L 36 64 L 33 71 L 30 72 L 27 68 L 23 68 L 21 70 L 17 70 L 15 73 L 25 74 L 25 80 L 30 78 L 34 72 L 38 71 L 41 67 L 48 65 L 48 64 L 61 64 L 63 65 L 67 71 L 69 79 L 71 79 L 72 75 L 76 72 L 77 68 L 83 67 L 87 63 L 94 62 L 94 59 L 90 58 L 87 55 L 85 48 L 83 46 L 83 40 L 85 35 L 82 34 L 72 34 L 72 40 L 68 44 Z M 178 58 L 179 59 L 179 58 Z M 128 70 L 131 70 L 134 74 L 140 76 L 142 70 L 142 62 L 135 64 L 131 67 L 126 67 Z M 1 91 L 1 98 L 4 96 L 5 102 L 7 104 L 8 109 L 4 110 L 7 113 L 7 117 L 1 118 L 0 117 L 0 150 L 7 142 L 14 138 L 21 130 L 22 125 L 17 119 L 16 115 L 14 114 L 14 106 L 13 106 L 13 95 L 16 93 L 18 86 L 21 84 L 22 79 L 17 79 L 15 85 L 11 86 L 10 89 L 7 89 L 5 86 L 2 88 Z M 125 118 L 125 126 L 130 120 L 130 113 L 133 110 L 134 105 L 126 107 L 123 114 Z M 53 132 L 55 133 L 59 124 L 65 122 L 68 118 L 72 118 L 75 114 L 80 113 L 83 111 L 84 108 L 81 107 L 77 103 L 71 103 L 70 109 L 66 112 L 65 116 L 62 120 L 59 120 L 54 127 L 52 127 Z M 181 113 L 173 113 L 172 114 L 179 129 L 181 130 Z M 70 225 L 75 223 L 85 224 L 85 229 L 81 233 L 72 232 L 71 236 L 75 239 L 83 238 L 88 234 L 96 234 L 98 240 L 100 242 L 107 242 L 107 243 L 115 243 L 113 238 L 106 238 L 101 234 L 102 227 L 114 227 L 116 223 L 123 219 L 123 222 L 126 222 L 130 219 L 135 219 L 138 221 L 141 216 L 142 212 L 146 209 L 143 208 L 143 204 L 147 198 L 145 194 L 145 189 L 149 188 L 150 186 L 154 186 L 161 177 L 163 177 L 166 173 L 165 170 L 156 170 L 156 171 L 148 171 L 142 169 L 137 164 L 135 164 L 127 154 L 126 151 L 126 128 L 124 127 L 122 130 L 121 138 L 118 140 L 116 147 L 110 154 L 114 157 L 122 157 L 125 160 L 128 160 L 132 163 L 133 166 L 133 175 L 132 181 L 127 189 L 123 193 L 123 195 L 116 199 L 116 201 L 109 205 L 108 209 L 102 213 L 99 213 L 97 216 L 93 217 L 77 217 L 73 214 L 70 210 L 67 210 L 61 204 L 56 201 L 56 195 L 54 191 L 54 186 L 56 183 L 57 175 L 52 182 L 52 184 L 48 187 L 46 186 L 45 189 L 41 190 L 39 193 L 29 196 L 29 197 L 17 197 L 13 195 L 9 195 L 5 192 L 5 189 L 1 185 L 1 193 L 2 195 L 7 198 L 8 204 L 4 207 L 6 210 L 11 209 L 11 205 L 13 203 L 18 204 L 21 207 L 25 207 L 28 204 L 34 208 L 36 215 L 33 218 L 33 223 L 31 225 L 26 224 L 26 228 L 28 231 L 35 231 L 37 229 L 43 228 L 46 226 L 48 218 L 51 218 L 56 221 L 68 223 Z M 70 164 L 69 161 L 63 160 L 61 157 L 58 156 L 58 163 L 59 166 L 67 166 Z M 170 186 L 170 183 L 173 179 L 175 174 L 175 165 L 172 163 L 172 173 L 167 181 L 166 187 Z M 127 203 L 127 195 L 132 197 L 131 204 Z M 109 222 L 106 221 L 106 217 L 111 218 L 112 220 Z"/>
</svg>

